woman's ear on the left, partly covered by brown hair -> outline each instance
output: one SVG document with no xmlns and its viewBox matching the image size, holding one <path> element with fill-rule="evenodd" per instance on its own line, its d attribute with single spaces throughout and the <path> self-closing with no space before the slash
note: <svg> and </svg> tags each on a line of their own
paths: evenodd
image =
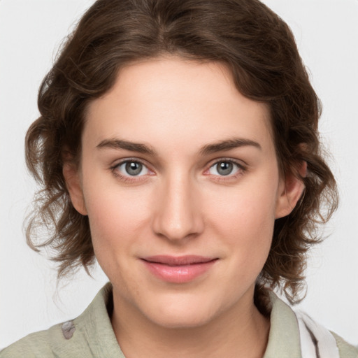
<svg viewBox="0 0 358 358">
<path fill-rule="evenodd" d="M 64 174 L 64 180 L 67 190 L 69 190 L 73 207 L 78 213 L 87 215 L 78 166 L 73 162 L 64 162 L 62 173 Z"/>
</svg>

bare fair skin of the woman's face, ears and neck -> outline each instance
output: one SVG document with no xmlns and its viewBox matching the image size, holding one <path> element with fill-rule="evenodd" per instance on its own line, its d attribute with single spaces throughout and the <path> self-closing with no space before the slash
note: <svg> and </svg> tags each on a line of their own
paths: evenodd
<svg viewBox="0 0 358 358">
<path fill-rule="evenodd" d="M 238 138 L 250 142 L 213 148 Z M 222 64 L 147 60 L 90 103 L 82 143 L 80 167 L 67 162 L 64 176 L 113 284 L 126 357 L 262 357 L 269 322 L 254 305 L 255 280 L 275 219 L 303 190 L 280 178 L 266 105 L 240 94 Z M 143 163 L 141 173 L 130 176 L 125 160 Z M 233 162 L 231 173 L 218 162 Z M 142 258 L 152 255 L 216 261 L 173 283 L 148 271 Z"/>
</svg>

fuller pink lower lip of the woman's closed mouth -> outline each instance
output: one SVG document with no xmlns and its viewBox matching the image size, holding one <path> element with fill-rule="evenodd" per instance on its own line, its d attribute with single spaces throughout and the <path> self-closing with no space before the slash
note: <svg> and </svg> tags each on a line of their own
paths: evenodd
<svg viewBox="0 0 358 358">
<path fill-rule="evenodd" d="M 173 283 L 184 283 L 195 280 L 206 273 L 216 261 L 215 259 L 197 264 L 169 266 L 143 260 L 145 266 L 153 275 L 161 280 Z"/>
</svg>

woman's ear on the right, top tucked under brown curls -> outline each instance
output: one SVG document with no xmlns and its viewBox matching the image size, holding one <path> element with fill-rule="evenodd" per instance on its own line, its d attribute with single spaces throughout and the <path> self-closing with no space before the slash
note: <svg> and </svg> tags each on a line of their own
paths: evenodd
<svg viewBox="0 0 358 358">
<path fill-rule="evenodd" d="M 305 185 L 299 178 L 305 178 L 307 175 L 307 162 L 302 162 L 296 168 L 298 176 L 294 173 L 289 173 L 285 178 L 282 178 L 278 189 L 278 201 L 276 203 L 275 219 L 289 215 L 297 201 L 301 198 Z"/>
</svg>

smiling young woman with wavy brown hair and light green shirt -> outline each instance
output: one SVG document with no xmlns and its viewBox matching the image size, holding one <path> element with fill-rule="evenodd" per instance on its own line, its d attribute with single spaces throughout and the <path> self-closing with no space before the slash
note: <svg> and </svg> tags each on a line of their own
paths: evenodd
<svg viewBox="0 0 358 358">
<path fill-rule="evenodd" d="M 266 6 L 96 1 L 38 105 L 27 163 L 45 245 L 59 277 L 96 257 L 110 285 L 1 357 L 357 355 L 268 290 L 299 300 L 336 185 L 317 96 Z"/>
</svg>

